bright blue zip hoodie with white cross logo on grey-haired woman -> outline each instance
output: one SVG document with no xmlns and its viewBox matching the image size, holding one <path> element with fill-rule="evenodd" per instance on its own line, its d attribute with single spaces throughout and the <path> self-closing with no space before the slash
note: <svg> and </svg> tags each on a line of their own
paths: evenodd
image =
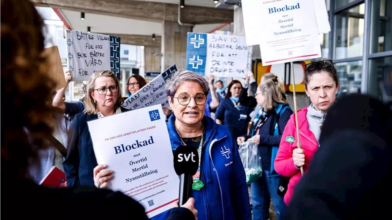
<svg viewBox="0 0 392 220">
<path fill-rule="evenodd" d="M 174 114 L 167 120 L 172 150 L 183 145 L 174 126 Z M 210 117 L 202 119 L 205 141 L 201 150 L 200 180 L 205 187 L 193 191 L 194 207 L 200 220 L 251 220 L 245 171 L 229 128 Z"/>
</svg>

